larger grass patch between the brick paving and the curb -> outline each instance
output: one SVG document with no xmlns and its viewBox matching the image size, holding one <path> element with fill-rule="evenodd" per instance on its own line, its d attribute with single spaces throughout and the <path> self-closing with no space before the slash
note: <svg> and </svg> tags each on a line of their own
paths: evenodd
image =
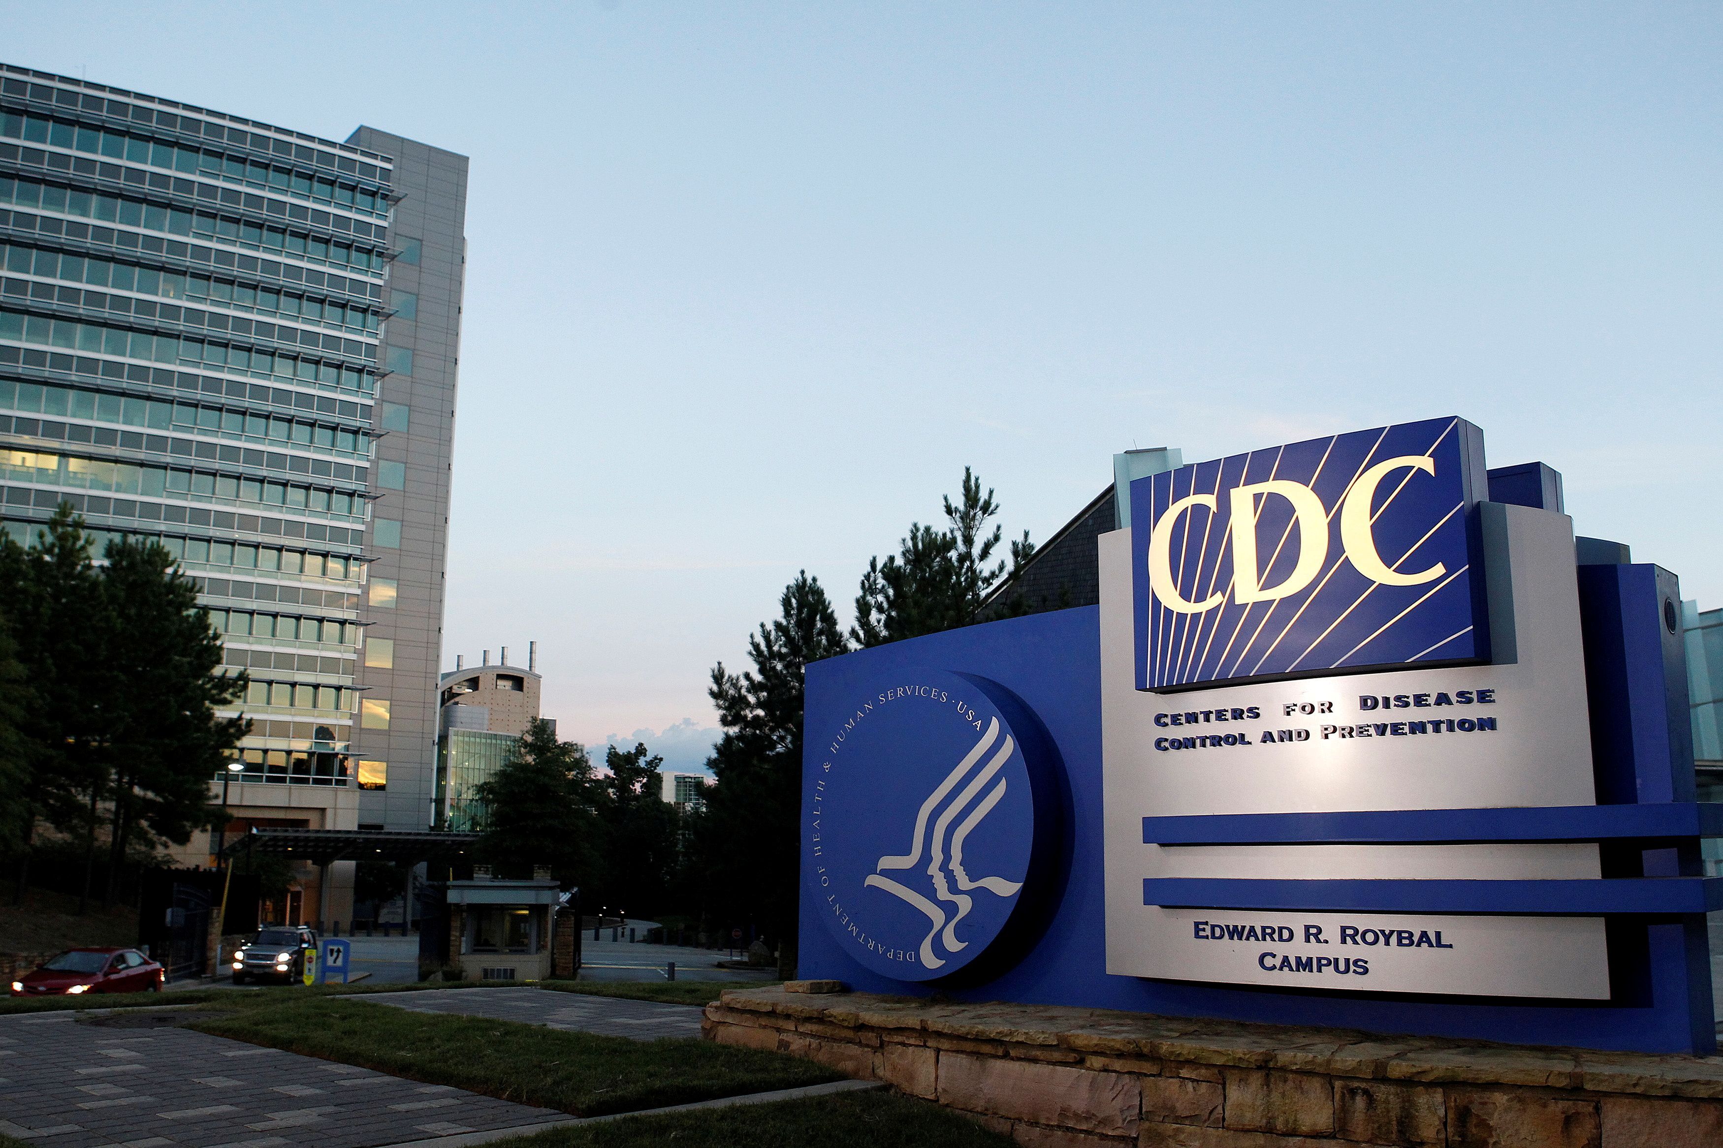
<svg viewBox="0 0 1723 1148">
<path fill-rule="evenodd" d="M 233 1012 L 193 1028 L 575 1115 L 841 1079 L 812 1060 L 755 1048 L 700 1040 L 634 1041 L 513 1021 L 407 1012 L 365 1003 L 362 993 L 296 1000 L 255 1000 L 262 991 L 226 997 L 239 998 Z"/>
</svg>

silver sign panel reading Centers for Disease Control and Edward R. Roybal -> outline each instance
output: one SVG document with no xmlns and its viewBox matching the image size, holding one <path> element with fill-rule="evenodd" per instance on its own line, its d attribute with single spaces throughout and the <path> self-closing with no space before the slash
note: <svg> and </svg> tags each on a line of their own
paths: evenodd
<svg viewBox="0 0 1723 1148">
<path fill-rule="evenodd" d="M 1496 664 L 1177 694 L 1134 676 L 1130 532 L 1101 544 L 1108 972 L 1601 1000 L 1601 917 L 1163 909 L 1146 878 L 1597 878 L 1595 845 L 1146 845 L 1172 814 L 1590 805 L 1571 522 L 1485 504 Z M 1342 964 L 1344 962 L 1344 964 Z"/>
</svg>

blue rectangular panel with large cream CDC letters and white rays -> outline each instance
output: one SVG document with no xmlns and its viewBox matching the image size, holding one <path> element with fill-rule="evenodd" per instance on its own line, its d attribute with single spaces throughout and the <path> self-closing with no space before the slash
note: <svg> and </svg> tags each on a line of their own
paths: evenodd
<svg viewBox="0 0 1723 1148">
<path fill-rule="evenodd" d="M 1137 478 L 1137 688 L 1487 659 L 1484 497 L 1484 434 L 1463 418 Z"/>
</svg>

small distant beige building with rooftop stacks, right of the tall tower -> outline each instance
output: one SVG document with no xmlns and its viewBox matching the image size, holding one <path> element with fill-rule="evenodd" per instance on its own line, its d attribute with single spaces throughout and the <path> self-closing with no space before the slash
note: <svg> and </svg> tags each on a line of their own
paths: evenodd
<svg viewBox="0 0 1723 1148">
<path fill-rule="evenodd" d="M 513 757 L 520 735 L 539 716 L 536 649 L 527 666 L 493 666 L 489 651 L 472 668 L 457 666 L 441 680 L 438 719 L 438 828 L 470 831 L 481 828 L 484 804 L 477 788 Z"/>
</svg>

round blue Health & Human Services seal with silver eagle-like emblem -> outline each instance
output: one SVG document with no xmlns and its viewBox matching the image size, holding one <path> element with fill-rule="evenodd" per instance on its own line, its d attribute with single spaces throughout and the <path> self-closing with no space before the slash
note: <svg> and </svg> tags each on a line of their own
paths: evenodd
<svg viewBox="0 0 1723 1148">
<path fill-rule="evenodd" d="M 1001 685 L 937 670 L 851 706 L 806 731 L 803 874 L 825 926 L 899 981 L 1003 967 L 1039 926 L 1056 862 L 1051 738 Z"/>
</svg>

